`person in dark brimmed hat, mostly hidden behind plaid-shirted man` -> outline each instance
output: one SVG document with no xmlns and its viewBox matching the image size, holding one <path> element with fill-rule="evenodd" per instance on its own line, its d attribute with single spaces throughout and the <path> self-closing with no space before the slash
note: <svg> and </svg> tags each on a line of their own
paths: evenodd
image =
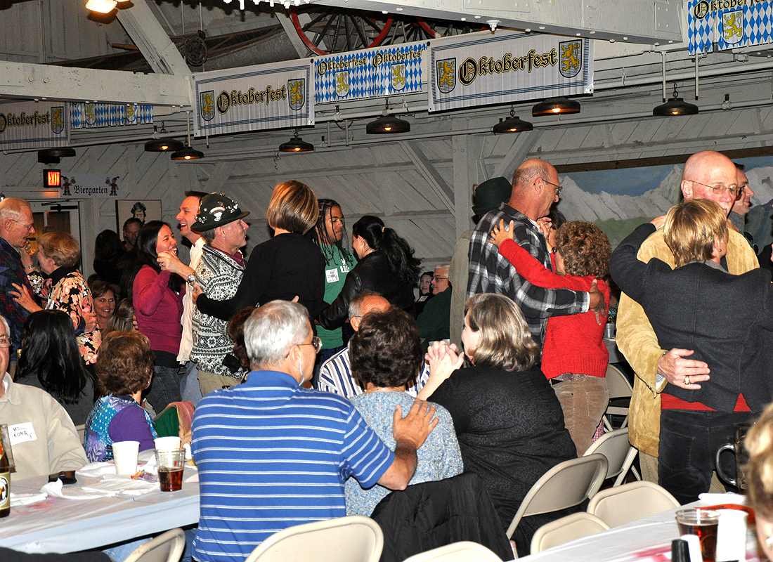
<svg viewBox="0 0 773 562">
<path fill-rule="evenodd" d="M 475 187 L 472 193 L 472 222 L 478 224 L 485 213 L 498 209 L 502 203 L 506 203 L 510 199 L 511 191 L 512 185 L 501 175 L 498 178 L 487 179 Z M 448 270 L 448 279 L 456 288 L 456 291 L 451 294 L 451 343 L 455 343 L 459 349 L 461 349 L 461 328 L 465 320 L 465 299 L 470 267 L 468 250 L 471 236 L 472 230 L 468 230 L 456 241 L 451 268 Z"/>
</svg>

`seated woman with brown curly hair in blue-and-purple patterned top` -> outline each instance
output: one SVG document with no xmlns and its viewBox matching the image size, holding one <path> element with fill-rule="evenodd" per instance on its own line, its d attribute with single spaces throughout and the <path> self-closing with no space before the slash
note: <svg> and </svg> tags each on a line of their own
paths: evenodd
<svg viewBox="0 0 773 562">
<path fill-rule="evenodd" d="M 158 438 L 150 414 L 140 406 L 153 376 L 153 352 L 140 332 L 111 332 L 99 349 L 97 380 L 103 393 L 86 421 L 83 447 L 89 462 L 113 458 L 113 443 L 139 441 L 140 451 Z"/>
</svg>

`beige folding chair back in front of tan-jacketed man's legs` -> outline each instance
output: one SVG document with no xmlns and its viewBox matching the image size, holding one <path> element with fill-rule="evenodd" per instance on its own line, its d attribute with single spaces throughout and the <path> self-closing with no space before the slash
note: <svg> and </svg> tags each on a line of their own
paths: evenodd
<svg viewBox="0 0 773 562">
<path fill-rule="evenodd" d="M 642 480 L 598 492 L 588 503 L 587 513 L 610 527 L 679 507 L 676 498 L 659 485 Z"/>
</svg>

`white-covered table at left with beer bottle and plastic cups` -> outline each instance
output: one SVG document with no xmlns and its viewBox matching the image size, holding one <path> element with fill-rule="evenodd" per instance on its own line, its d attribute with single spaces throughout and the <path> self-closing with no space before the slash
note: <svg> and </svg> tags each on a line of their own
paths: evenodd
<svg viewBox="0 0 773 562">
<path fill-rule="evenodd" d="M 188 476 L 186 470 L 186 476 Z M 184 477 L 185 478 L 185 477 Z M 77 477 L 77 485 L 98 479 Z M 39 492 L 48 478 L 14 481 L 12 492 Z M 26 553 L 90 550 L 139 536 L 199 523 L 199 483 L 183 482 L 178 492 L 142 496 L 61 499 L 49 496 L 29 506 L 12 507 L 0 519 L 0 547 Z"/>
</svg>

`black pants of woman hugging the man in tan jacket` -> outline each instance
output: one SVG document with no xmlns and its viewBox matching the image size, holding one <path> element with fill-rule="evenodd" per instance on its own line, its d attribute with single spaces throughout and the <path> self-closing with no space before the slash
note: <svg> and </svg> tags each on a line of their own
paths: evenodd
<svg viewBox="0 0 773 562">
<path fill-rule="evenodd" d="M 757 417 L 751 412 L 662 410 L 658 483 L 682 504 L 696 501 L 698 494 L 709 491 L 717 449 L 734 442 L 735 424 Z M 723 472 L 733 477 L 734 456 L 726 453 L 720 462 Z"/>
</svg>

